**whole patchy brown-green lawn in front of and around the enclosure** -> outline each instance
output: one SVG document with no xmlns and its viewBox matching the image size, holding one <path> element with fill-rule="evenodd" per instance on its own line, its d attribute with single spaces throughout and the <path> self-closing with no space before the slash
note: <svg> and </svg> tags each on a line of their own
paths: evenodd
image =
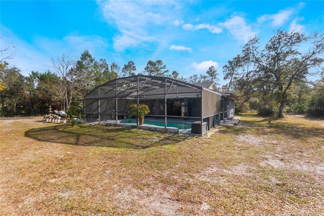
<svg viewBox="0 0 324 216">
<path fill-rule="evenodd" d="M 0 215 L 323 215 L 324 120 L 199 137 L 0 119 Z"/>
</svg>

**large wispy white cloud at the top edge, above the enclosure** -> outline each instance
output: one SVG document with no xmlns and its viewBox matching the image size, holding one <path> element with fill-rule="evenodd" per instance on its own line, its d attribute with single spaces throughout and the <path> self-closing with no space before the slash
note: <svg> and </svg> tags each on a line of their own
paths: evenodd
<svg viewBox="0 0 324 216">
<path fill-rule="evenodd" d="M 154 31 L 166 27 L 166 24 L 180 25 L 183 22 L 175 20 L 176 15 L 170 13 L 171 7 L 176 4 L 169 1 L 98 2 L 107 22 L 117 29 L 117 34 L 113 38 L 113 46 L 117 51 L 136 47 L 145 42 L 164 41 L 163 35 Z"/>
</svg>

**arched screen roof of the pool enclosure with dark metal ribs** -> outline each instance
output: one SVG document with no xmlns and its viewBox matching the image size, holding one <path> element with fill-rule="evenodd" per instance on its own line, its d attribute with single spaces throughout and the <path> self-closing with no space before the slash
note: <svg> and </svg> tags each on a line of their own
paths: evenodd
<svg viewBox="0 0 324 216">
<path fill-rule="evenodd" d="M 88 98 L 201 97 L 204 87 L 168 77 L 131 76 L 109 81 L 93 89 Z M 219 94 L 215 92 L 216 94 Z"/>
</svg>

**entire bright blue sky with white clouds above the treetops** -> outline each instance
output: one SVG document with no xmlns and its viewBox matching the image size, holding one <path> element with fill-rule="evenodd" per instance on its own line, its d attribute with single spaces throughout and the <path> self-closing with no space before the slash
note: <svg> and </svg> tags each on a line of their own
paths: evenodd
<svg viewBox="0 0 324 216">
<path fill-rule="evenodd" d="M 0 1 L 1 58 L 28 76 L 53 70 L 62 55 L 89 50 L 136 73 L 149 60 L 188 78 L 223 66 L 257 36 L 264 44 L 278 29 L 324 33 L 324 1 Z"/>
</svg>

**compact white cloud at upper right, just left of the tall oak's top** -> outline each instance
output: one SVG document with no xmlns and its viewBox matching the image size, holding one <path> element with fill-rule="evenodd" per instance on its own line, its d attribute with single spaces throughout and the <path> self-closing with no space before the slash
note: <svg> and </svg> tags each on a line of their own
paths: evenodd
<svg viewBox="0 0 324 216">
<path fill-rule="evenodd" d="M 251 26 L 246 24 L 245 19 L 238 16 L 228 19 L 221 25 L 227 28 L 239 41 L 248 42 L 256 34 L 256 32 L 252 31 Z"/>
</svg>

